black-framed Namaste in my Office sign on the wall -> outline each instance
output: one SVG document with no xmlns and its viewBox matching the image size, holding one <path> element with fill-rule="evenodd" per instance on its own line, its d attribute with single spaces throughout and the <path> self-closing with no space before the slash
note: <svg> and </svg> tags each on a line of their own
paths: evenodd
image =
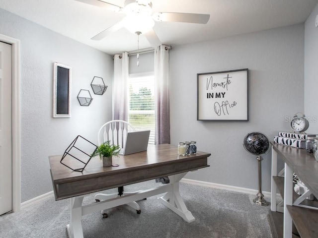
<svg viewBox="0 0 318 238">
<path fill-rule="evenodd" d="M 248 120 L 248 68 L 197 74 L 197 120 Z"/>
</svg>

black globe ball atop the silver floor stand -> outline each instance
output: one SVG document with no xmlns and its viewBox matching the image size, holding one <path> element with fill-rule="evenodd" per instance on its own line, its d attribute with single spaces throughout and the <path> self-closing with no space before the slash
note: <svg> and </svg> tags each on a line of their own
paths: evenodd
<svg viewBox="0 0 318 238">
<path fill-rule="evenodd" d="M 245 150 L 253 155 L 265 155 L 269 149 L 269 140 L 260 132 L 251 132 L 244 137 L 243 146 Z"/>
</svg>

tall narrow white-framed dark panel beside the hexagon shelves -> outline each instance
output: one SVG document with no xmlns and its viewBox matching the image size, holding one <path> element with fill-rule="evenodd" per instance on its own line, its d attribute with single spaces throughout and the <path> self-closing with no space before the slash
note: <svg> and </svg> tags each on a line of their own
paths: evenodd
<svg viewBox="0 0 318 238">
<path fill-rule="evenodd" d="M 53 71 L 53 118 L 70 118 L 72 68 L 54 62 Z"/>
</svg>

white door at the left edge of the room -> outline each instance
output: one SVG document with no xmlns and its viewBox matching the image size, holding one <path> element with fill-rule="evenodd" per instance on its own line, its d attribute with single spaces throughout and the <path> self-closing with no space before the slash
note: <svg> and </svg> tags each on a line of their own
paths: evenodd
<svg viewBox="0 0 318 238">
<path fill-rule="evenodd" d="M 11 45 L 0 42 L 0 215 L 12 210 Z"/>
</svg>

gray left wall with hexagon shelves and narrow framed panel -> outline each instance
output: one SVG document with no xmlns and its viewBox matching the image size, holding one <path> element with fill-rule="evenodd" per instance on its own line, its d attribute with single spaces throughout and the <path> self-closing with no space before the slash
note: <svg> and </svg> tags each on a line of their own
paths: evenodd
<svg viewBox="0 0 318 238">
<path fill-rule="evenodd" d="M 111 119 L 112 57 L 0 8 L 0 34 L 21 41 L 21 201 L 52 191 L 48 156 L 63 154 L 77 135 L 97 143 L 99 127 Z M 71 118 L 52 118 L 53 62 L 72 67 Z M 94 76 L 108 85 L 94 95 Z M 90 90 L 89 107 L 79 106 Z M 94 158 L 94 159 L 97 159 Z"/>
</svg>

